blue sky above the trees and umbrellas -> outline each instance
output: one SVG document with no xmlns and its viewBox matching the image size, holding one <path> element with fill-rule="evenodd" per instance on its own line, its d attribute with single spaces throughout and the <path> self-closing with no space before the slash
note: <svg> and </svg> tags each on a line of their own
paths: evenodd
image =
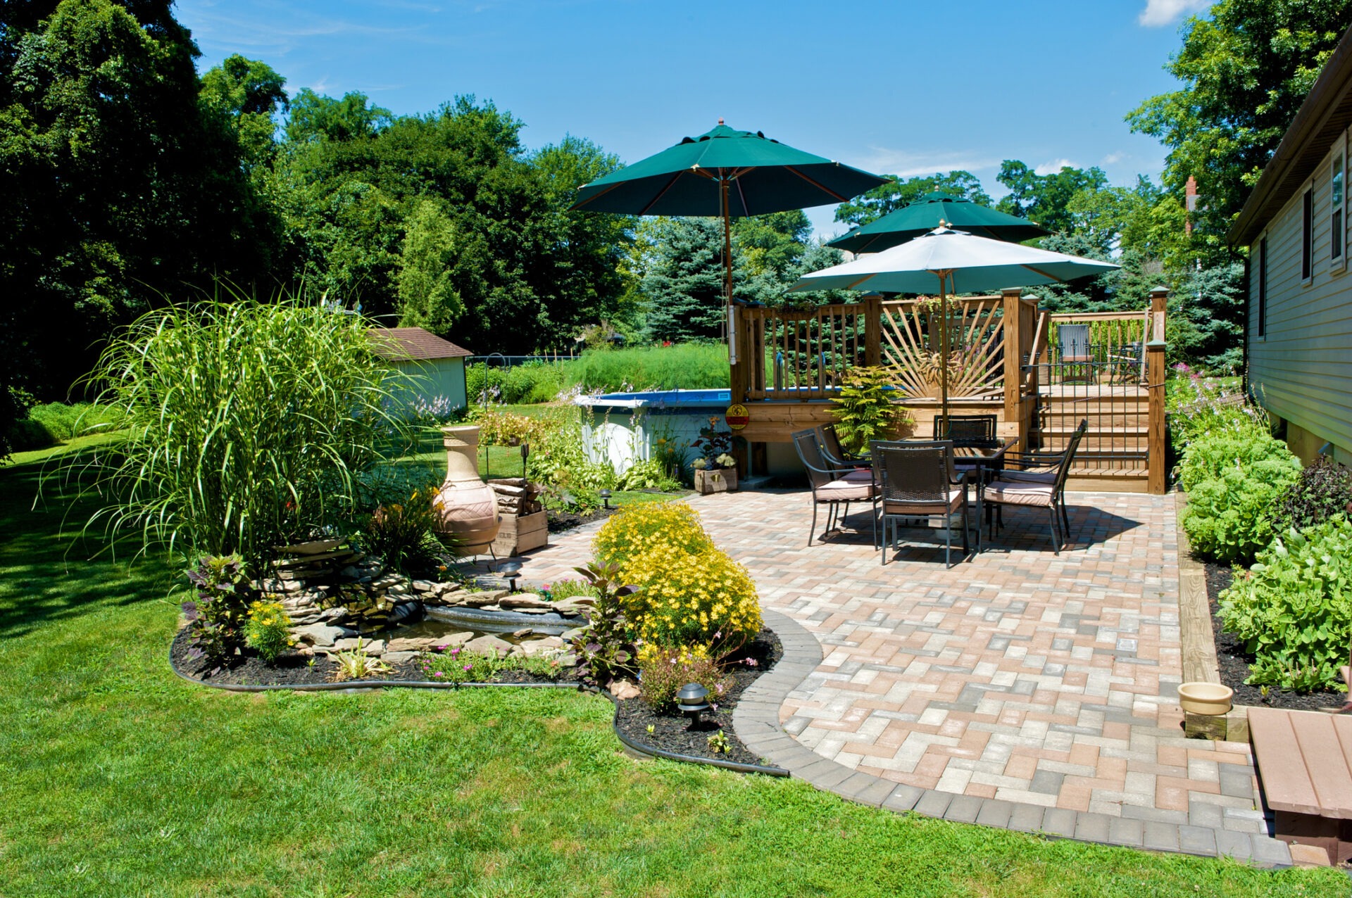
<svg viewBox="0 0 1352 898">
<path fill-rule="evenodd" d="M 1164 150 L 1124 116 L 1178 86 L 1163 66 L 1201 0 L 642 3 L 180 0 L 203 69 L 262 59 L 289 92 L 361 90 L 396 113 L 460 93 L 633 162 L 727 124 L 880 174 L 1002 159 L 1157 177 Z M 819 234 L 844 232 L 831 208 Z"/>
</svg>

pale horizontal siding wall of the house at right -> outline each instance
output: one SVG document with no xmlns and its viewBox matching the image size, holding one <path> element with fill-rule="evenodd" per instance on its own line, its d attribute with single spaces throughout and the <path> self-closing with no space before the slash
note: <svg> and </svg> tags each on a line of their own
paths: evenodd
<svg viewBox="0 0 1352 898">
<path fill-rule="evenodd" d="M 1270 412 L 1314 435 L 1303 446 L 1332 442 L 1340 460 L 1352 460 L 1352 271 L 1329 258 L 1330 151 L 1314 177 L 1311 278 L 1301 278 L 1301 223 L 1305 189 L 1278 213 L 1249 247 L 1249 385 Z M 1259 336 L 1259 246 L 1267 238 L 1267 321 Z M 1303 438 L 1305 435 L 1302 435 Z"/>
</svg>

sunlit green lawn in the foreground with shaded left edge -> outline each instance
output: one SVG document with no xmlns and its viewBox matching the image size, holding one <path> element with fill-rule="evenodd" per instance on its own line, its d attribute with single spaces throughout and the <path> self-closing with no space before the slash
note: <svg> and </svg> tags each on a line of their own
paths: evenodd
<svg viewBox="0 0 1352 898">
<path fill-rule="evenodd" d="M 635 762 L 595 695 L 207 690 L 168 666 L 172 566 L 91 560 L 38 471 L 0 469 L 7 897 L 1348 893 Z"/>
</svg>

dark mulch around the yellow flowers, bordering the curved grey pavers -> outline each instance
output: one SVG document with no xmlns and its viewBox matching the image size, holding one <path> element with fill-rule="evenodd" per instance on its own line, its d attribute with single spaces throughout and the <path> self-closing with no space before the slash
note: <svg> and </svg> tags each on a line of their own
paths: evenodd
<svg viewBox="0 0 1352 898">
<path fill-rule="evenodd" d="M 783 656 L 784 647 L 780 645 L 779 636 L 771 629 L 761 629 L 754 640 L 727 659 L 733 683 L 718 701 L 718 710 L 710 709 L 700 714 L 702 725 L 699 729 L 690 729 L 690 720 L 681 714 L 656 713 L 641 698 L 626 698 L 618 702 L 615 728 L 629 739 L 653 748 L 694 755 L 695 758 L 764 766 L 768 762 L 748 749 L 733 732 L 733 709 L 737 708 L 737 699 L 746 687 L 754 683 L 757 677 L 771 670 Z M 754 659 L 756 666 L 748 667 L 744 663 L 746 658 Z M 649 727 L 653 728 L 653 732 L 648 732 Z M 727 737 L 729 749 L 726 752 L 714 752 L 708 747 L 708 737 L 719 729 Z"/>
</svg>

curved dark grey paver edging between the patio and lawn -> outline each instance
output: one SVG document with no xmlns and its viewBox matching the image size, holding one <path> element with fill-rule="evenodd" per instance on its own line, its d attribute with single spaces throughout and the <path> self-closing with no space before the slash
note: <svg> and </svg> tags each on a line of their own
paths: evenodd
<svg viewBox="0 0 1352 898">
<path fill-rule="evenodd" d="M 1259 867 L 1291 866 L 1291 852 L 1286 843 L 1265 835 L 956 795 L 937 789 L 895 783 L 822 758 L 784 732 L 779 722 L 780 705 L 822 663 L 821 644 L 787 614 L 771 609 L 763 609 L 761 614 L 765 625 L 779 636 L 784 656 L 775 664 L 775 670 L 742 693 L 733 710 L 733 729 L 749 749 L 779 764 L 791 776 L 860 805 L 914 812 L 955 822 L 1203 857 L 1226 855 Z"/>
</svg>

